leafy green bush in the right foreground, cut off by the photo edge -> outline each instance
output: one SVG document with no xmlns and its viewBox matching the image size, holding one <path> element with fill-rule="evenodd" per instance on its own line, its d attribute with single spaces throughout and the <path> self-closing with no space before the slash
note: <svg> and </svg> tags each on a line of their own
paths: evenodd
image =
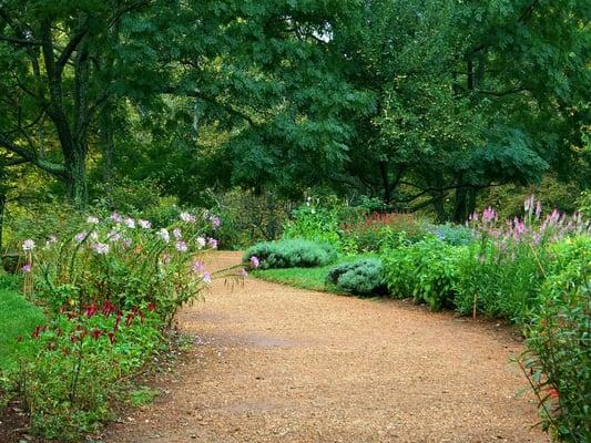
<svg viewBox="0 0 591 443">
<path fill-rule="evenodd" d="M 591 237 L 560 246 L 526 329 L 521 365 L 539 399 L 544 430 L 563 442 L 591 441 Z"/>
</svg>

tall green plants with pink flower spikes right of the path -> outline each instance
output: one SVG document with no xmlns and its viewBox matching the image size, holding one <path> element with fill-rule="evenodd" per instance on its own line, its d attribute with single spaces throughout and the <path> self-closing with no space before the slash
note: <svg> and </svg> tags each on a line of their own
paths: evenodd
<svg viewBox="0 0 591 443">
<path fill-rule="evenodd" d="M 542 217 L 533 197 L 524 204 L 523 218 L 501 223 L 492 208 L 470 216 L 468 226 L 479 241 L 459 266 L 456 306 L 460 312 L 481 311 L 518 323 L 531 318 L 539 291 L 552 260 L 550 246 L 590 231 L 581 214 L 567 216 L 553 210 Z"/>
</svg>

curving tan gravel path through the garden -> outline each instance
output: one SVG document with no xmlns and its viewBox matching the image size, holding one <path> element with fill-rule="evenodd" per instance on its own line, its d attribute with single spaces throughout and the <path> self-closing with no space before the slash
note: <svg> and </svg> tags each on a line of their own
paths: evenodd
<svg viewBox="0 0 591 443">
<path fill-rule="evenodd" d="M 194 350 L 105 442 L 547 441 L 493 323 L 255 279 L 215 284 L 180 322 Z"/>
</svg>

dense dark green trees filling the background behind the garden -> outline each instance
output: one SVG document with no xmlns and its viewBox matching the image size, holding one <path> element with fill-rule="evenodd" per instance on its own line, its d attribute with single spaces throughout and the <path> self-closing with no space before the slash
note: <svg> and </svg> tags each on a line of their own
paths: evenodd
<svg viewBox="0 0 591 443">
<path fill-rule="evenodd" d="M 584 0 L 0 0 L 6 240 L 89 205 L 335 195 L 463 222 L 536 192 L 573 210 L 589 17 Z"/>
</svg>

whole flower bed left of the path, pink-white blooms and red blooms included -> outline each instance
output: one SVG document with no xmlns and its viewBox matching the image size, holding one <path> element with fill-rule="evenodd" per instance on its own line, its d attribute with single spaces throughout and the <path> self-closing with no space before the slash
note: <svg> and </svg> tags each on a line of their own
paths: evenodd
<svg viewBox="0 0 591 443">
<path fill-rule="evenodd" d="M 26 404 L 31 432 L 65 442 L 94 431 L 111 416 L 120 381 L 163 350 L 176 310 L 213 278 L 246 275 L 241 266 L 205 269 L 204 254 L 217 240 L 204 233 L 220 223 L 181 213 L 156 229 L 112 213 L 88 216 L 61 238 L 21 243 L 23 292 L 47 318 L 14 338 L 18 364 L 3 380 Z"/>
</svg>

